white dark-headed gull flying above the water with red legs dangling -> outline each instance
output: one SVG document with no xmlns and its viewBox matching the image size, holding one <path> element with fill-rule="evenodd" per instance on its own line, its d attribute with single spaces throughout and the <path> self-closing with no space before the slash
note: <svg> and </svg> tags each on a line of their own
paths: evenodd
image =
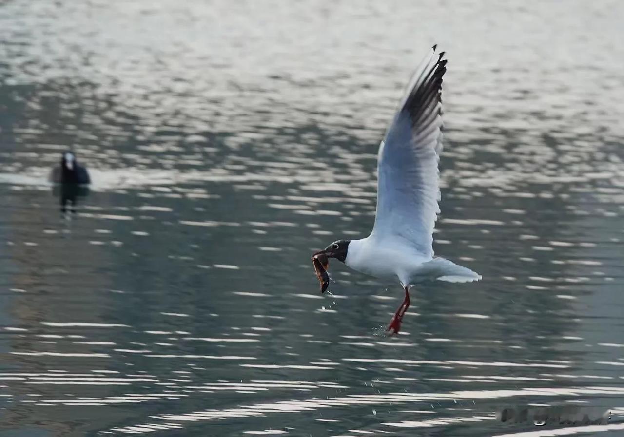
<svg viewBox="0 0 624 437">
<path fill-rule="evenodd" d="M 377 211 L 371 234 L 338 240 L 314 256 L 344 262 L 380 279 L 398 279 L 405 298 L 388 325 L 397 334 L 409 307 L 409 289 L 419 282 L 479 281 L 466 267 L 434 256 L 433 229 L 440 212 L 442 76 L 444 52 L 433 46 L 416 69 L 394 120 L 379 145 Z"/>
</svg>

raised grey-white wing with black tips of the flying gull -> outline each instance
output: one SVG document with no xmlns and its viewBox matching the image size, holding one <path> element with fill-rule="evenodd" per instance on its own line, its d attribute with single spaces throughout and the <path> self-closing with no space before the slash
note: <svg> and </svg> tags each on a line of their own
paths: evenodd
<svg viewBox="0 0 624 437">
<path fill-rule="evenodd" d="M 418 67 L 379 145 L 377 213 L 371 233 L 404 239 L 429 257 L 440 212 L 443 57 L 434 46 Z"/>
</svg>

